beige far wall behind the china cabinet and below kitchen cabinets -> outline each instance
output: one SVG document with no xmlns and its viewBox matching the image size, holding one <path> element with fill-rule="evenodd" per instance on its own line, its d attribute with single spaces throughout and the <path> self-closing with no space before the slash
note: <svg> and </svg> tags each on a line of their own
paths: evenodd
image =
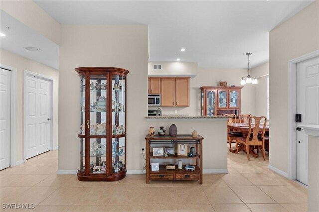
<svg viewBox="0 0 319 212">
<path fill-rule="evenodd" d="M 175 114 L 177 110 L 177 114 L 200 115 L 200 87 L 219 86 L 219 80 L 227 80 L 227 86 L 240 86 L 241 78 L 247 74 L 246 69 L 198 68 L 197 76 L 189 80 L 189 107 L 162 107 L 163 114 Z M 241 90 L 242 113 L 255 114 L 255 102 L 252 96 L 255 96 L 254 85 L 245 85 Z"/>
</svg>

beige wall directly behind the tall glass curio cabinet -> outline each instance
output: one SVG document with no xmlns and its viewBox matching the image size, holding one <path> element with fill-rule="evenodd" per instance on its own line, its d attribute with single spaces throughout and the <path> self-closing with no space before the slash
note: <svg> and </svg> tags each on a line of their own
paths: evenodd
<svg viewBox="0 0 319 212">
<path fill-rule="evenodd" d="M 142 170 L 149 130 L 147 25 L 62 25 L 59 52 L 59 173 L 78 170 L 80 78 L 77 67 L 119 67 L 127 77 L 127 169 Z"/>
</svg>

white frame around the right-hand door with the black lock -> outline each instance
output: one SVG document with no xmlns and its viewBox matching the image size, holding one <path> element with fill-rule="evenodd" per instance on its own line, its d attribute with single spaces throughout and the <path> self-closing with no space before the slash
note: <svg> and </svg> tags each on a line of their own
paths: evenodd
<svg viewBox="0 0 319 212">
<path fill-rule="evenodd" d="M 318 57 L 319 50 L 288 61 L 288 178 L 297 179 L 297 134 L 295 114 L 297 112 L 297 63 Z"/>
</svg>

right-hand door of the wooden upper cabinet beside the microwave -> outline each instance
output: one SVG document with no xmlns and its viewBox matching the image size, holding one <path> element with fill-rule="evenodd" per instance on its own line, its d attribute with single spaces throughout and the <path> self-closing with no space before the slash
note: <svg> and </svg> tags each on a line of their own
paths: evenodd
<svg viewBox="0 0 319 212">
<path fill-rule="evenodd" d="M 175 106 L 189 106 L 189 79 L 176 78 Z"/>
</svg>

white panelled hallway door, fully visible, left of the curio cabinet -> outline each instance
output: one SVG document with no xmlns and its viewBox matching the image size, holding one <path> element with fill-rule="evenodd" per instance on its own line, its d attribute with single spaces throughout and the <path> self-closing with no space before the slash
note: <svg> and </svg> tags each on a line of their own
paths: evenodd
<svg viewBox="0 0 319 212">
<path fill-rule="evenodd" d="M 26 76 L 25 159 L 50 150 L 50 82 Z"/>
</svg>

